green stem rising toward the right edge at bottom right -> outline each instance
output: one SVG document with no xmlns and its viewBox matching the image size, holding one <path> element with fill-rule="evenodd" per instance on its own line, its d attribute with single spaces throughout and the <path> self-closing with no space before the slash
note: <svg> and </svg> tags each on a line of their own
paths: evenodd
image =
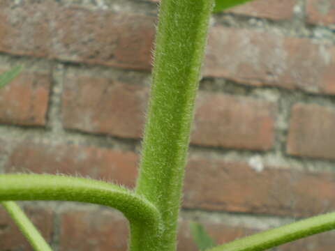
<svg viewBox="0 0 335 251">
<path fill-rule="evenodd" d="M 335 213 L 299 220 L 282 227 L 262 231 L 207 251 L 261 251 L 299 238 L 335 229 Z"/>
</svg>

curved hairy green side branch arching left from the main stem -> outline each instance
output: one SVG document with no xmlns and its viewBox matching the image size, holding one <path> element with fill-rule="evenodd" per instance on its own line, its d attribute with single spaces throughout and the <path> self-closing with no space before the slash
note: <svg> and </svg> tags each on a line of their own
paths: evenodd
<svg viewBox="0 0 335 251">
<path fill-rule="evenodd" d="M 147 199 L 126 188 L 89 178 L 46 174 L 0 174 L 0 201 L 80 201 L 117 208 L 142 234 L 161 232 L 161 214 Z M 145 245 L 143 245 L 146 248 Z M 145 250 L 145 249 L 144 249 Z"/>
</svg>

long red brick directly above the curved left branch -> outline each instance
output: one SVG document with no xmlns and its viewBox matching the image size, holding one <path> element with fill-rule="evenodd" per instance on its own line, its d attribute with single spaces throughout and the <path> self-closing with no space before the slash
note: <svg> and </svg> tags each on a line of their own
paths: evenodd
<svg viewBox="0 0 335 251">
<path fill-rule="evenodd" d="M 89 176 L 127 186 L 134 185 L 137 175 L 137 155 L 133 152 L 23 141 L 7 154 L 7 172 Z"/>
</svg>

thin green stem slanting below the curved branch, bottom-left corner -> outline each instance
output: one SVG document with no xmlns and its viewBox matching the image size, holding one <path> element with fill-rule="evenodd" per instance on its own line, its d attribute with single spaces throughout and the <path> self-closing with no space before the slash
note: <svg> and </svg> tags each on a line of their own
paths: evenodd
<svg viewBox="0 0 335 251">
<path fill-rule="evenodd" d="M 15 221 L 17 227 L 20 228 L 22 234 L 26 236 L 31 246 L 36 251 L 52 251 L 49 244 L 40 235 L 40 232 L 31 223 L 24 211 L 14 201 L 2 201 L 1 204 Z"/>
</svg>

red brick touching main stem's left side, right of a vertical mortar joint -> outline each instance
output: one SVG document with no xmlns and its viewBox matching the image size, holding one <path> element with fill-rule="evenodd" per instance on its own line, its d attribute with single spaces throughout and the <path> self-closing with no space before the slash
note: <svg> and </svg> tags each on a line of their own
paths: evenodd
<svg viewBox="0 0 335 251">
<path fill-rule="evenodd" d="M 109 79 L 68 76 L 63 93 L 66 128 L 141 137 L 149 89 Z"/>
</svg>

